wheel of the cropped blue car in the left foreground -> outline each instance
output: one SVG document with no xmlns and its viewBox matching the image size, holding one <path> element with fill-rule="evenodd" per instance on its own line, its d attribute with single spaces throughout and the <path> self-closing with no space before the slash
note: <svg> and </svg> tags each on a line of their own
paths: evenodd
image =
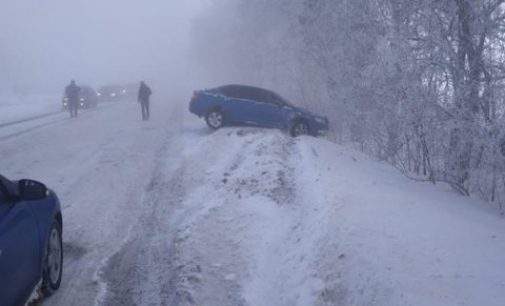
<svg viewBox="0 0 505 306">
<path fill-rule="evenodd" d="M 61 226 L 57 221 L 53 222 L 53 226 L 49 233 L 49 239 L 46 242 L 43 265 L 42 293 L 44 296 L 50 296 L 60 287 L 63 268 Z"/>
</svg>

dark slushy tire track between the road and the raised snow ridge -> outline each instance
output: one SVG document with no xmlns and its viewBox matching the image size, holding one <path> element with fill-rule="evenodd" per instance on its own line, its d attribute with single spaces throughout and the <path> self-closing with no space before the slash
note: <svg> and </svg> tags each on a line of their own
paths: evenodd
<svg viewBox="0 0 505 306">
<path fill-rule="evenodd" d="M 155 171 L 144 188 L 143 213 L 123 246 L 100 269 L 105 291 L 98 297 L 102 305 L 172 305 L 170 277 L 172 232 L 171 212 L 184 196 L 180 180 L 184 166 L 175 155 L 177 147 L 167 140 L 156 153 Z M 167 156 L 174 158 L 167 159 Z M 174 167 L 175 166 L 175 167 Z"/>
</svg>

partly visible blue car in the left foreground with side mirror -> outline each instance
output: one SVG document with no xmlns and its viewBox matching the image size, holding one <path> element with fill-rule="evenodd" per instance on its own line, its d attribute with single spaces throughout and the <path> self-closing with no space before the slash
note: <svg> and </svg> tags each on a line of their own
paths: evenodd
<svg viewBox="0 0 505 306">
<path fill-rule="evenodd" d="M 0 175 L 0 305 L 49 296 L 61 283 L 63 220 L 58 197 L 42 183 Z"/>
</svg>

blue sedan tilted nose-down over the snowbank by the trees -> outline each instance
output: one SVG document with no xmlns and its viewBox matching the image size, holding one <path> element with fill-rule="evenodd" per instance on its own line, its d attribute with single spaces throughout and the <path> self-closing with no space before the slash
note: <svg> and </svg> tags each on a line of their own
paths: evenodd
<svg viewBox="0 0 505 306">
<path fill-rule="evenodd" d="M 226 85 L 195 91 L 191 113 L 205 118 L 212 129 L 258 126 L 288 131 L 291 136 L 318 136 L 328 130 L 328 119 L 293 106 L 278 94 L 252 86 Z"/>
</svg>

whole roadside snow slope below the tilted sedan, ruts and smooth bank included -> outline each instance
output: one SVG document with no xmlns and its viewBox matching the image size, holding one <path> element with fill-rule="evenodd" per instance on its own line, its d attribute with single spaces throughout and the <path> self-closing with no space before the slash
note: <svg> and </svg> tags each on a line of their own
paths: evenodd
<svg viewBox="0 0 505 306">
<path fill-rule="evenodd" d="M 483 204 L 277 131 L 223 129 L 183 154 L 178 305 L 505 305 L 505 223 Z"/>
</svg>

